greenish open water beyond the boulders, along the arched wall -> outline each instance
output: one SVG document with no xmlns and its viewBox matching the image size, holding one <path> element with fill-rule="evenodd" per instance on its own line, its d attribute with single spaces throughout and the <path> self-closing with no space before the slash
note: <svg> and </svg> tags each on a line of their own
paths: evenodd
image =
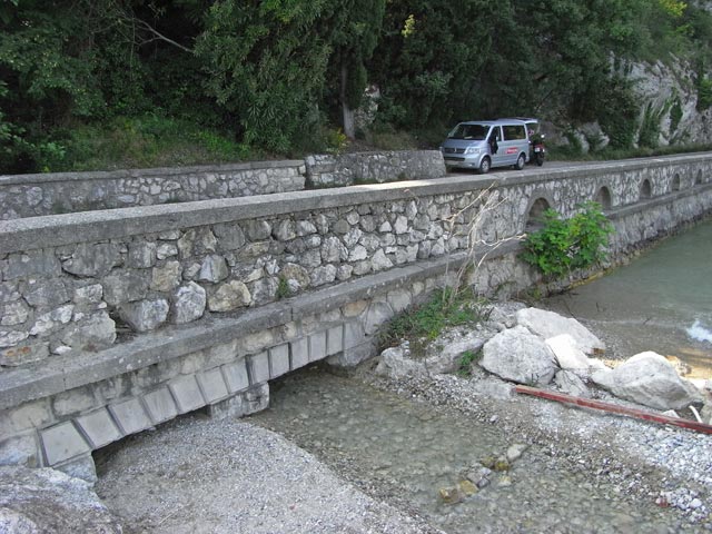
<svg viewBox="0 0 712 534">
<path fill-rule="evenodd" d="M 688 363 L 689 377 L 712 378 L 712 221 L 546 306 L 612 342 L 616 358 L 654 350 Z"/>
</svg>

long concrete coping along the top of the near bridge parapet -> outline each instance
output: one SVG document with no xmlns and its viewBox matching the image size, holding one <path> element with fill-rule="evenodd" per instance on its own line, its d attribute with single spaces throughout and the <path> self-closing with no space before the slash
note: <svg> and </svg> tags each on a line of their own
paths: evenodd
<svg viewBox="0 0 712 534">
<path fill-rule="evenodd" d="M 276 217 L 365 202 L 403 200 L 414 196 L 456 195 L 488 187 L 508 187 L 551 179 L 595 177 L 616 170 L 698 162 L 711 158 L 712 155 L 709 152 L 668 158 L 641 158 L 544 169 L 534 174 L 507 171 L 486 176 L 451 176 L 426 180 L 368 184 L 334 189 L 28 217 L 0 221 L 0 255 L 76 243 L 120 239 L 142 235 L 147 231 L 159 233 L 175 228 Z M 708 185 L 695 187 L 704 186 Z"/>
</svg>

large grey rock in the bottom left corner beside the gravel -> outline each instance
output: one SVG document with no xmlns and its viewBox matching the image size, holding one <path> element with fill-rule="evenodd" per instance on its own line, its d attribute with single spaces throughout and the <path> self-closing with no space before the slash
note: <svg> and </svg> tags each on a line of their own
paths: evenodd
<svg viewBox="0 0 712 534">
<path fill-rule="evenodd" d="M 55 469 L 0 467 L 0 532 L 120 534 L 91 486 Z"/>
</svg>

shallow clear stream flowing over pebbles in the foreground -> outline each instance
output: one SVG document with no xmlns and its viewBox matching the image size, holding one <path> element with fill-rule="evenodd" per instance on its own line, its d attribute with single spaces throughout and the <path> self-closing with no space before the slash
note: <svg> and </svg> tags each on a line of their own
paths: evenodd
<svg viewBox="0 0 712 534">
<path fill-rule="evenodd" d="M 481 469 L 483 457 L 501 455 L 513 439 L 524 437 L 318 369 L 278 383 L 270 408 L 250 421 L 284 434 L 337 471 L 348 465 L 352 482 L 377 488 L 377 498 L 394 497 L 448 534 L 681 528 L 672 510 L 651 498 L 630 501 L 611 484 L 592 481 L 591 471 L 605 464 L 572 472 L 536 445 L 506 474 L 493 473 L 488 486 L 446 504 L 439 488 L 454 486 L 463 473 Z"/>
</svg>

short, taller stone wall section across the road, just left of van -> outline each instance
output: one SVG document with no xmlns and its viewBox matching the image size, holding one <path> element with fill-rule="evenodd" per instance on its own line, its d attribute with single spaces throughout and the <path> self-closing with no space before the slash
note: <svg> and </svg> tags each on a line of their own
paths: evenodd
<svg viewBox="0 0 712 534">
<path fill-rule="evenodd" d="M 445 162 L 439 150 L 319 155 L 308 156 L 305 161 L 307 181 L 317 188 L 445 176 Z"/>
</svg>

